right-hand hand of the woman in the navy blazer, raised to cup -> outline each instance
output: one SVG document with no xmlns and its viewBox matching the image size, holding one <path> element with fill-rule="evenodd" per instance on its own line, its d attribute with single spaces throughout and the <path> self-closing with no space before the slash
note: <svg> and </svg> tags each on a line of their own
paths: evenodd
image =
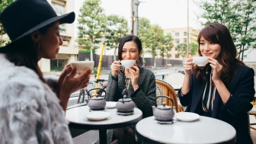
<svg viewBox="0 0 256 144">
<path fill-rule="evenodd" d="M 210 66 L 213 70 L 212 80 L 214 83 L 221 81 L 220 75 L 222 73 L 222 66 L 216 59 L 209 57 L 208 62 L 210 62 Z"/>
</svg>

